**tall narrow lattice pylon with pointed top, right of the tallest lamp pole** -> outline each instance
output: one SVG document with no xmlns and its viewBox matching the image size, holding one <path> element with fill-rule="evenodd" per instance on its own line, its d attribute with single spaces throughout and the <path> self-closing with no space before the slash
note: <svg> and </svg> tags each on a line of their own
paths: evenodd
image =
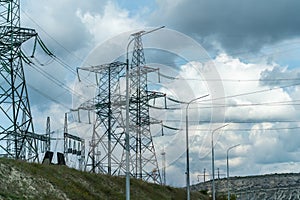
<svg viewBox="0 0 300 200">
<path fill-rule="evenodd" d="M 136 178 L 161 184 L 149 115 L 149 100 L 156 98 L 156 95 L 148 91 L 147 83 L 148 73 L 157 69 L 146 66 L 141 37 L 143 33 L 141 31 L 132 34 L 134 48 L 130 66 L 129 143 L 131 149 L 134 150 L 130 152 L 130 160 L 134 164 L 132 164 L 131 173 Z M 123 158 L 125 158 L 125 151 Z"/>
</svg>

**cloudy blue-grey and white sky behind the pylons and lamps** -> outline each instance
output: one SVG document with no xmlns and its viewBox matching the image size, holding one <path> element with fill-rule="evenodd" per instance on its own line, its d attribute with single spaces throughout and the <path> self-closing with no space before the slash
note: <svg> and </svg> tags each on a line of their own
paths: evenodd
<svg viewBox="0 0 300 200">
<path fill-rule="evenodd" d="M 226 150 L 236 144 L 240 146 L 230 151 L 233 176 L 298 172 L 299 7 L 296 0 L 23 1 L 22 25 L 36 29 L 57 56 L 51 60 L 39 49 L 35 62 L 43 65 L 26 66 L 35 128 L 43 133 L 47 116 L 53 129 L 63 128 L 63 115 L 73 107 L 73 99 L 84 98 L 74 90 L 76 68 L 87 63 L 95 48 L 122 33 L 128 39 L 128 33 L 165 25 L 165 30 L 145 37 L 147 47 L 159 49 L 145 51 L 145 56 L 173 78 L 151 87 L 183 101 L 210 94 L 190 107 L 191 183 L 199 177 L 202 181 L 204 168 L 212 173 L 210 133 L 224 123 L 229 125 L 215 134 L 215 166 L 221 176 Z M 31 45 L 24 47 L 28 55 Z M 100 60 L 107 62 L 105 58 Z M 171 106 L 181 109 L 151 113 L 168 126 L 184 128 L 185 106 Z M 154 137 L 154 142 L 159 164 L 162 149 L 166 151 L 167 184 L 183 186 L 180 137 L 185 132 L 174 134 L 172 139 Z M 174 146 L 181 150 L 174 151 Z"/>
</svg>

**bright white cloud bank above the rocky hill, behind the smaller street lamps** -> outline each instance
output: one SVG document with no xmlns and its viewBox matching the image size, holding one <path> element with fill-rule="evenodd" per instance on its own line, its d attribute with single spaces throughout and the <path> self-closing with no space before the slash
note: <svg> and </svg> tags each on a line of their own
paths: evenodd
<svg viewBox="0 0 300 200">
<path fill-rule="evenodd" d="M 235 105 L 235 107 L 226 108 L 225 118 L 232 121 L 244 122 L 244 123 L 230 123 L 226 129 L 228 131 L 220 131 L 215 135 L 215 155 L 216 155 L 216 165 L 217 167 L 226 170 L 226 150 L 228 147 L 235 144 L 241 144 L 239 147 L 231 151 L 230 161 L 232 163 L 231 173 L 233 175 L 248 175 L 257 174 L 262 172 L 262 167 L 268 164 L 270 173 L 274 172 L 272 164 L 274 166 L 281 166 L 279 163 L 284 162 L 297 162 L 298 159 L 294 156 L 295 151 L 299 151 L 297 144 L 293 141 L 296 140 L 296 135 L 293 133 L 291 127 L 298 126 L 298 123 L 288 123 L 280 122 L 282 120 L 297 120 L 298 114 L 297 110 L 293 105 L 283 105 L 274 102 L 292 102 L 295 99 L 295 92 L 298 87 L 293 87 L 292 90 L 285 89 L 273 89 L 267 85 L 260 84 L 260 78 L 262 72 L 266 70 L 273 70 L 274 68 L 282 69 L 282 73 L 290 73 L 286 67 L 281 67 L 276 63 L 266 64 L 266 63 L 244 63 L 239 59 L 232 58 L 226 54 L 219 55 L 215 58 L 216 68 L 223 80 L 223 85 L 225 89 L 225 96 L 237 95 L 233 98 L 225 98 L 226 105 Z M 195 63 L 194 63 L 195 66 Z M 196 65 L 200 68 L 202 64 Z M 191 95 L 191 92 L 195 91 L 205 91 L 205 85 L 198 84 L 195 81 L 189 80 L 189 78 L 200 78 L 200 75 L 193 72 L 193 68 L 189 69 L 189 65 L 185 65 L 180 68 L 178 72 L 180 77 L 186 78 L 184 84 L 180 83 L 178 80 L 174 80 L 173 83 L 169 83 L 167 88 L 173 91 L 175 94 L 180 94 L 180 96 L 186 97 Z M 273 79 L 277 78 L 272 76 Z M 228 81 L 231 80 L 231 81 Z M 240 81 L 232 81 L 240 80 Z M 248 81 L 243 81 L 248 80 Z M 186 87 L 189 86 L 189 87 Z M 164 89 L 166 90 L 166 89 Z M 255 93 L 255 91 L 262 91 Z M 179 92 L 180 91 L 180 92 Z M 209 90 L 208 90 L 209 91 Z M 243 93 L 251 93 L 251 95 L 241 95 Z M 194 94 L 197 96 L 197 92 Z M 256 105 L 260 103 L 267 103 L 264 105 Z M 253 104 L 253 105 L 252 105 Z M 244 106 L 243 106 L 244 105 Z M 252 106 L 247 106 L 252 105 Z M 201 103 L 200 103 L 201 106 Z M 207 104 L 203 105 L 207 107 Z M 212 105 L 219 106 L 219 105 Z M 200 119 L 209 119 L 208 109 L 200 109 L 198 112 L 190 110 L 189 116 L 191 120 L 199 119 L 199 113 L 202 116 Z M 184 115 L 185 113 L 180 113 L 177 111 L 177 115 Z M 198 116 L 198 117 L 197 117 Z M 171 119 L 174 118 L 169 116 Z M 182 118 L 184 121 L 184 119 Z M 277 122 L 278 121 L 278 122 Z M 248 122 L 248 123 L 245 123 Z M 217 124 L 222 125 L 222 124 Z M 178 134 L 184 136 L 185 134 L 185 123 L 181 124 L 182 131 Z M 190 136 L 197 136 L 194 141 L 190 142 L 190 165 L 192 178 L 196 181 L 197 174 L 202 173 L 203 168 L 210 169 L 211 167 L 211 155 L 210 155 L 210 132 L 209 131 L 197 131 L 196 129 L 208 129 L 209 124 L 195 125 L 191 123 L 189 126 Z M 231 129 L 231 130 L 230 130 Z M 242 131 L 239 131 L 242 129 Z M 297 130 L 297 129 L 296 129 Z M 170 141 L 170 139 L 168 139 Z M 164 141 L 162 139 L 162 141 Z M 179 148 L 174 149 L 184 145 L 183 141 L 171 140 L 172 144 L 169 149 L 173 149 L 172 153 L 179 153 L 179 155 L 185 156 L 179 150 Z M 163 143 L 163 142 L 162 142 Z M 158 143 L 161 144 L 161 143 Z M 166 143 L 163 143 L 166 144 Z M 287 145 L 289 144 L 289 145 Z M 168 147 L 166 147 L 166 155 L 173 160 L 174 155 L 168 155 Z M 182 153 L 180 153 L 182 152 Z M 176 157 L 176 156 L 175 156 Z M 272 163 L 272 164 L 271 164 Z M 177 165 L 176 163 L 174 163 Z M 180 164 L 182 166 L 182 163 Z M 184 167 L 181 173 L 184 173 Z M 293 170 L 293 168 L 291 168 Z M 276 168 L 276 172 L 280 171 L 279 167 Z M 287 171 L 283 169 L 283 172 Z M 289 170 L 288 170 L 289 171 Z M 173 173 L 172 171 L 169 172 Z M 178 172 L 176 172 L 178 173 Z M 175 176 L 175 174 L 173 174 Z M 171 177 L 173 177 L 171 176 Z M 191 180 L 192 181 L 192 180 Z M 172 178 L 173 184 L 174 180 Z M 185 182 L 183 180 L 178 180 L 176 182 L 177 186 L 184 186 Z"/>
</svg>

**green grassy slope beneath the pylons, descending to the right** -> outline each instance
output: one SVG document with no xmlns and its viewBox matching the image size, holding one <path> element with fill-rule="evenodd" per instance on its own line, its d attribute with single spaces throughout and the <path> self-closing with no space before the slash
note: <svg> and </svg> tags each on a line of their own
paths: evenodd
<svg viewBox="0 0 300 200">
<path fill-rule="evenodd" d="M 131 199 L 186 199 L 182 188 L 131 179 Z M 125 178 L 0 158 L 1 199 L 125 199 Z M 191 199 L 208 199 L 192 192 Z"/>
</svg>

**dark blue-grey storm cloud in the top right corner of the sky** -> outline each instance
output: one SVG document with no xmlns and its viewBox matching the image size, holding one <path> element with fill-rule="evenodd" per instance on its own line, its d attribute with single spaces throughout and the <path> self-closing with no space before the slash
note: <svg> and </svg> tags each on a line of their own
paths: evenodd
<svg viewBox="0 0 300 200">
<path fill-rule="evenodd" d="M 182 0 L 159 4 L 153 22 L 170 24 L 204 43 L 217 42 L 230 52 L 257 51 L 300 33 L 300 1 L 296 0 Z"/>
</svg>

